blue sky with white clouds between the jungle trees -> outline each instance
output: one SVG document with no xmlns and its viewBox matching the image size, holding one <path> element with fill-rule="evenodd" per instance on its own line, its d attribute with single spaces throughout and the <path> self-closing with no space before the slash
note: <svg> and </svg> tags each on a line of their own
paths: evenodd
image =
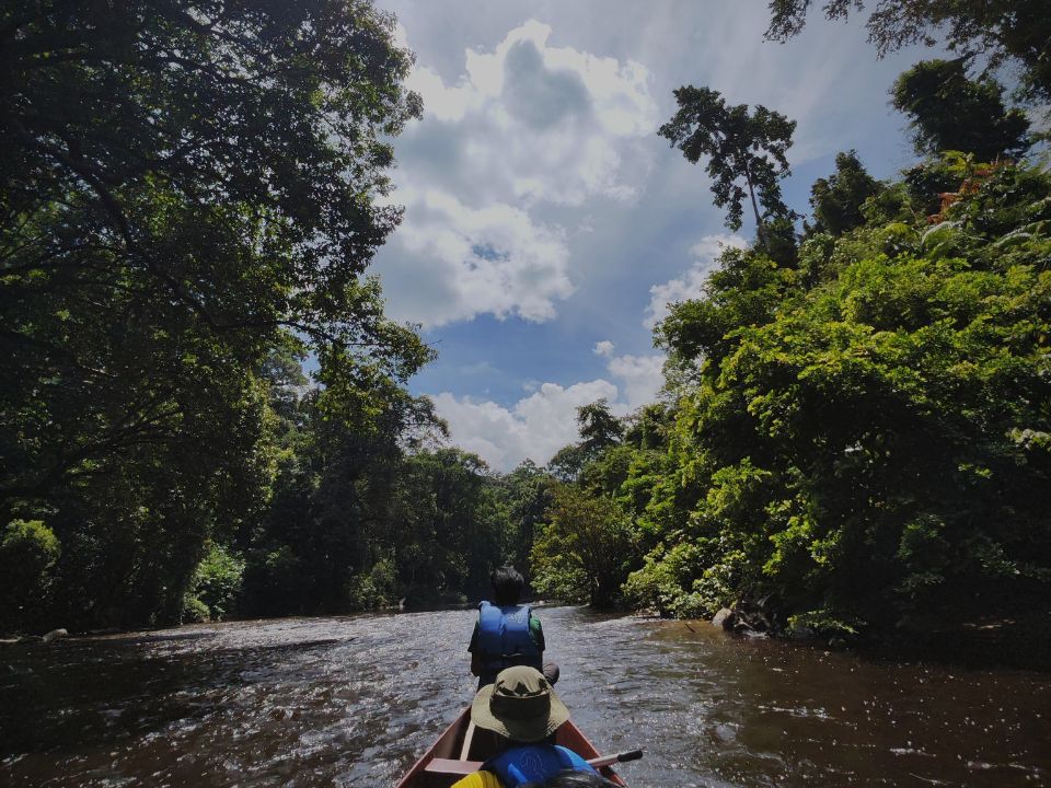
<svg viewBox="0 0 1051 788">
<path fill-rule="evenodd" d="M 388 314 L 438 351 L 409 383 L 451 443 L 498 472 L 543 465 L 578 439 L 576 408 L 654 402 L 652 327 L 694 298 L 721 246 L 743 245 L 703 165 L 657 135 L 672 91 L 709 86 L 798 121 L 786 201 L 856 149 L 887 178 L 915 161 L 894 78 L 929 49 L 883 60 L 862 20 L 811 13 L 763 40 L 763 0 L 378 0 L 416 54 L 424 116 L 394 141 L 401 227 L 380 251 Z"/>
</svg>

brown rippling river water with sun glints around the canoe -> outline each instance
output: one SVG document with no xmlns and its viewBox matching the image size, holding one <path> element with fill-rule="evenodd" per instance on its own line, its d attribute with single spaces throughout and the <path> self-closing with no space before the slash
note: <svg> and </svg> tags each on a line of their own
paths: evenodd
<svg viewBox="0 0 1051 788">
<path fill-rule="evenodd" d="M 470 698 L 472 612 L 0 648 L 0 785 L 392 785 Z M 1051 784 L 1051 676 L 541 611 L 559 695 L 636 788 Z"/>
</svg>

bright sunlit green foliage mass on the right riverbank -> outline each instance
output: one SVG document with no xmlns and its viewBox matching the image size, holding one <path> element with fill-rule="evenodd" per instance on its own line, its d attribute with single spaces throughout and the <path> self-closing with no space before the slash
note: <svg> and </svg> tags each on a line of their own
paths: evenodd
<svg viewBox="0 0 1051 788">
<path fill-rule="evenodd" d="M 774 594 L 799 626 L 850 631 L 1047 593 L 1051 271 L 1031 217 L 1051 179 L 963 166 L 940 223 L 815 235 L 800 277 L 727 254 L 672 311 L 660 336 L 704 362 L 651 488 L 663 543 L 628 583 L 640 599 Z"/>
</svg>

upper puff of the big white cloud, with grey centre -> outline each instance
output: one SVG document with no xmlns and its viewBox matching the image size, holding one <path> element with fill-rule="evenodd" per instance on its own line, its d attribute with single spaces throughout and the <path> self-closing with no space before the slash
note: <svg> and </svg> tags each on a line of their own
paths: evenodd
<svg viewBox="0 0 1051 788">
<path fill-rule="evenodd" d="M 531 20 L 492 51 L 467 49 L 451 84 L 415 68 L 407 84 L 424 99 L 424 120 L 400 141 L 401 179 L 417 179 L 416 154 L 429 155 L 453 132 L 458 154 L 430 161 L 428 177 L 526 202 L 632 198 L 634 183 L 620 171 L 625 155 L 637 157 L 633 143 L 656 128 L 649 72 L 632 60 L 548 46 L 551 33 Z"/>
</svg>

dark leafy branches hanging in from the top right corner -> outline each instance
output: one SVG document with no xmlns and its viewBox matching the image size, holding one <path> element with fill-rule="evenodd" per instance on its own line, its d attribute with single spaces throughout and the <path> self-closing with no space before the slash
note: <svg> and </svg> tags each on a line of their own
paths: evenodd
<svg viewBox="0 0 1051 788">
<path fill-rule="evenodd" d="M 811 4 L 771 0 L 766 37 L 786 40 L 797 35 Z M 864 8 L 864 0 L 829 0 L 822 10 L 830 20 L 845 20 L 851 11 Z M 966 59 L 984 55 L 989 68 L 1013 61 L 1020 67 L 1031 99 L 1051 99 L 1051 5 L 1046 0 L 878 0 L 866 26 L 879 57 L 911 44 L 931 46 L 944 31 L 949 48 Z"/>
</svg>

